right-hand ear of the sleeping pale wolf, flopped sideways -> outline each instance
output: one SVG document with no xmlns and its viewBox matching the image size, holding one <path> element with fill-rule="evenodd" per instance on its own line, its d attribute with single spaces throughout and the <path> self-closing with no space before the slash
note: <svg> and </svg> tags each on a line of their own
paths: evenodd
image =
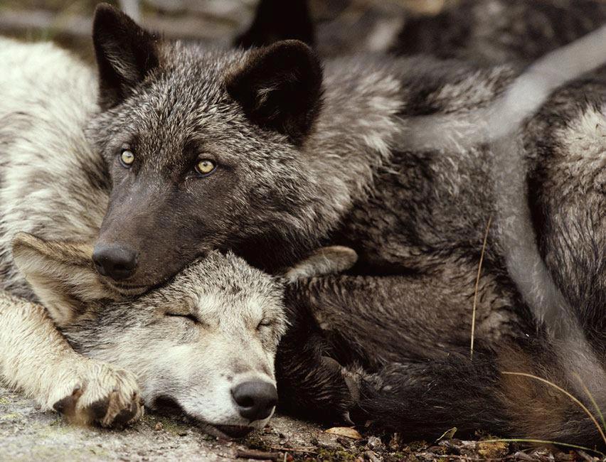
<svg viewBox="0 0 606 462">
<path fill-rule="evenodd" d="M 358 254 L 349 247 L 341 245 L 320 247 L 294 267 L 289 268 L 284 276 L 287 281 L 294 282 L 307 277 L 337 274 L 350 269 L 357 261 Z"/>
</svg>

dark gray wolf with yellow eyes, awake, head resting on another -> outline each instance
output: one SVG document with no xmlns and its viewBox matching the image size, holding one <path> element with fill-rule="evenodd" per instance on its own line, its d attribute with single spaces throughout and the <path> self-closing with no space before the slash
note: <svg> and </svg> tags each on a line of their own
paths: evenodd
<svg viewBox="0 0 606 462">
<path fill-rule="evenodd" d="M 345 243 L 361 255 L 351 274 L 353 285 L 347 286 L 346 280 L 334 286 L 322 281 L 316 289 L 326 289 L 325 298 L 320 291 L 307 302 L 292 302 L 294 308 L 302 306 L 301 316 L 309 313 L 310 304 L 321 300 L 326 309 L 334 308 L 339 316 L 350 305 L 353 309 L 353 303 L 362 303 L 370 307 L 366 318 L 380 315 L 384 309 L 399 312 L 400 320 L 408 319 L 407 311 L 411 321 L 428 316 L 427 323 L 417 321 L 405 328 L 405 322 L 382 324 L 384 318 L 371 318 L 363 326 L 367 328 L 366 340 L 377 349 L 374 356 L 368 354 L 368 361 L 365 353 L 359 353 L 363 341 L 353 340 L 359 346 L 351 345 L 356 337 L 350 338 L 350 343 L 329 341 L 331 348 L 319 341 L 323 335 L 309 335 L 305 345 L 282 343 L 285 347 L 280 358 L 285 367 L 279 377 L 283 384 L 293 385 L 292 390 L 297 390 L 292 377 L 314 377 L 307 373 L 307 360 L 297 362 L 293 358 L 314 358 L 324 367 L 320 377 L 316 376 L 318 380 L 312 381 L 315 387 L 309 387 L 307 393 L 303 389 L 294 393 L 286 402 L 310 398 L 310 410 L 314 403 L 318 407 L 334 404 L 336 415 L 348 411 L 356 414 L 356 403 L 361 402 L 361 409 L 376 409 L 383 415 L 385 407 L 371 407 L 372 400 L 367 407 L 358 397 L 372 398 L 372 390 L 378 390 L 382 397 L 382 392 L 400 389 L 393 384 L 381 388 L 379 382 L 362 381 L 347 371 L 344 374 L 342 365 L 355 364 L 372 375 L 383 370 L 376 362 L 381 358 L 389 365 L 403 362 L 405 368 L 407 363 L 401 355 L 421 364 L 450 357 L 451 352 L 457 353 L 452 354 L 453 358 L 461 358 L 470 331 L 470 296 L 484 229 L 489 217 L 499 212 L 496 199 L 501 191 L 494 189 L 490 168 L 491 161 L 498 158 L 482 143 L 467 146 L 463 152 L 407 149 L 402 134 L 410 133 L 408 128 L 415 126 L 420 117 L 442 114 L 450 116 L 454 124 L 472 110 L 488 107 L 504 94 L 514 71 L 507 66 L 478 70 L 461 62 L 423 57 L 368 56 L 329 61 L 322 70 L 314 53 L 299 42 L 257 50 L 203 50 L 196 45 L 161 41 L 106 6 L 100 7 L 95 18 L 95 47 L 100 107 L 87 117 L 86 133 L 110 173 L 97 185 L 102 189 L 112 186 L 93 256 L 99 272 L 105 275 L 104 284 L 116 291 L 139 293 L 169 279 L 209 249 L 232 248 L 252 264 L 276 271 L 319 243 Z M 601 141 L 595 128 L 586 130 L 588 126 L 583 123 L 603 118 L 602 109 L 596 109 L 603 104 L 602 79 L 600 75 L 588 78 L 587 85 L 581 80 L 573 86 L 578 94 L 565 100 L 568 104 L 564 104 L 561 114 L 551 109 L 538 118 L 540 122 L 555 119 L 563 125 L 561 131 L 554 131 L 553 139 L 557 146 L 568 146 L 557 151 L 558 156 L 567 159 L 564 166 L 570 159 L 587 166 L 578 154 L 580 145 L 564 144 L 565 140 L 585 137 L 589 146 Z M 87 104 L 95 105 L 90 93 L 83 97 Z M 555 97 L 553 101 L 557 108 L 560 100 Z M 541 173 L 547 161 L 542 164 L 543 157 L 537 155 L 545 154 L 538 140 L 544 139 L 546 130 L 541 126 L 525 131 L 526 144 L 535 140 L 541 146 L 530 149 L 527 155 L 531 171 L 538 171 L 541 181 L 546 178 Z M 546 154 L 550 162 L 558 156 Z M 93 172 L 99 171 L 97 167 L 85 168 L 83 175 L 95 178 Z M 541 184 L 531 195 L 532 200 L 546 201 L 537 208 L 531 204 L 533 217 L 543 217 L 535 218 L 531 225 L 548 270 L 577 310 L 580 324 L 588 326 L 585 316 L 589 315 L 599 326 L 600 296 L 596 294 L 602 289 L 599 280 L 594 281 L 599 273 L 590 271 L 595 254 L 586 253 L 582 246 L 565 245 L 573 232 L 567 220 L 577 217 L 577 209 L 570 210 L 565 200 L 559 203 L 554 193 L 565 189 L 571 197 L 571 191 L 585 191 L 579 178 L 562 174 L 555 175 L 553 183 L 528 183 Z M 599 210 L 600 198 L 594 200 L 583 203 L 585 215 Z M 601 228 L 592 225 L 593 221 L 584 223 L 580 230 L 586 230 L 585 234 L 576 229 L 574 232 L 587 242 L 599 243 Z M 560 228 L 569 230 L 569 234 Z M 537 323 L 524 301 L 526 294 L 519 290 L 507 268 L 507 249 L 494 230 L 489 235 L 488 249 L 479 284 L 477 358 L 482 358 L 483 350 L 504 354 L 503 345 L 519 349 L 528 337 L 538 339 L 539 345 L 550 345 L 541 342 L 545 340 L 541 331 L 536 333 Z M 356 277 L 361 277 L 364 284 L 356 285 Z M 392 292 L 389 300 L 380 289 L 382 284 L 392 284 L 387 286 Z M 583 296 L 587 293 L 583 291 L 585 286 L 591 287 L 587 298 Z M 14 284 L 14 289 L 18 287 Z M 301 294 L 306 293 L 314 294 L 301 289 Z M 399 311 L 387 311 L 388 302 L 395 303 Z M 314 313 L 318 310 L 312 307 L 311 311 L 309 323 L 299 326 L 315 325 Z M 294 309 L 292 316 L 300 313 Z M 346 332 L 347 326 L 329 319 L 320 321 L 319 328 L 329 330 L 332 323 L 337 333 Z M 392 331 L 393 326 L 401 328 Z M 417 326 L 419 338 L 410 333 L 415 333 Z M 394 332 L 398 338 L 411 335 L 413 339 L 392 342 L 400 355 L 390 355 L 381 341 L 393 339 Z M 361 334 L 361 330 L 353 333 Z M 588 330 L 588 339 L 597 349 L 595 354 L 600 355 L 599 335 Z M 345 356 L 340 356 L 339 350 Z M 544 364 L 556 363 L 544 363 L 541 356 L 531 354 L 505 355 L 507 358 L 514 358 L 514 362 L 501 363 L 504 365 L 494 372 L 497 378 L 501 377 L 499 371 L 510 366 L 541 372 Z M 537 358 L 537 364 L 528 358 Z M 440 370 L 449 369 L 437 367 Z M 425 382 L 394 382 L 400 387 L 413 383 L 426 390 L 424 384 L 432 383 L 432 375 L 427 377 Z M 568 377 L 556 376 L 554 380 L 562 383 Z M 402 375 L 398 378 L 405 379 Z M 310 396 L 309 391 L 318 389 Z M 418 432 L 433 434 L 436 429 L 432 422 L 440 426 L 457 415 L 453 404 L 456 393 L 447 387 L 442 390 L 445 396 L 436 395 L 436 399 L 440 402 L 437 407 L 446 409 L 445 417 L 433 419 L 432 412 L 437 412 L 434 407 L 420 408 L 425 413 L 410 419 Z M 482 390 L 490 392 L 494 387 Z M 506 396 L 521 398 L 520 406 L 524 406 L 524 396 L 515 391 Z M 391 398 L 386 400 L 390 406 L 405 400 L 405 393 Z M 603 402 L 600 396 L 596 399 Z M 563 403 L 555 404 L 555 409 L 565 408 Z M 472 431 L 475 426 L 487 426 L 512 434 L 531 434 L 535 430 L 516 424 L 516 415 L 506 415 L 502 420 L 494 415 L 487 414 L 482 420 L 475 413 L 462 422 L 461 428 Z M 575 439 L 592 439 L 588 427 L 575 434 L 561 420 L 537 431 L 554 437 L 562 431 Z M 385 421 L 388 428 L 406 425 L 398 419 Z M 499 426 L 499 422 L 511 426 Z"/>
</svg>

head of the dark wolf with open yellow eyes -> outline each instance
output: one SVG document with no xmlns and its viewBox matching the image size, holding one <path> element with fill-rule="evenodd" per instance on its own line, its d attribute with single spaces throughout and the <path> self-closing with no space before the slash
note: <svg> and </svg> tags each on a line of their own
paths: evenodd
<svg viewBox="0 0 606 462">
<path fill-rule="evenodd" d="M 264 268 L 307 250 L 326 227 L 300 152 L 321 102 L 307 45 L 170 43 L 110 6 L 97 9 L 93 38 L 100 113 L 87 136 L 112 178 L 95 245 L 100 274 L 137 290 L 209 249 L 236 249 Z M 267 252 L 282 242 L 294 250 Z"/>
</svg>

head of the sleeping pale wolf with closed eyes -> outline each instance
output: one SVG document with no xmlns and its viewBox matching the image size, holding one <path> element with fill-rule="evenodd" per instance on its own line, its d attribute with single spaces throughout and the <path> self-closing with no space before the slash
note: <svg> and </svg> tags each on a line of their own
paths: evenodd
<svg viewBox="0 0 606 462">
<path fill-rule="evenodd" d="M 76 350 L 137 374 L 147 406 L 176 408 L 211 433 L 240 436 L 264 426 L 277 402 L 285 282 L 355 262 L 350 249 L 329 249 L 280 279 L 211 252 L 134 301 L 98 277 L 91 245 L 19 234 L 13 254 Z"/>
</svg>

